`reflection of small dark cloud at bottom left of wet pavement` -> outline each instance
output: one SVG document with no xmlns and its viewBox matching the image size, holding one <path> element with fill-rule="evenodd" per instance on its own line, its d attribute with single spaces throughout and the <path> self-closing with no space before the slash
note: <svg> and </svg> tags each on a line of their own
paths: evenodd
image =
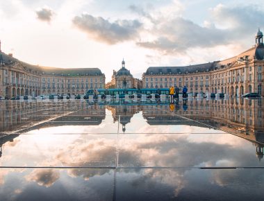
<svg viewBox="0 0 264 201">
<path fill-rule="evenodd" d="M 37 182 L 40 186 L 49 187 L 58 180 L 60 174 L 53 169 L 34 170 L 29 175 L 26 175 L 26 180 Z"/>
</svg>

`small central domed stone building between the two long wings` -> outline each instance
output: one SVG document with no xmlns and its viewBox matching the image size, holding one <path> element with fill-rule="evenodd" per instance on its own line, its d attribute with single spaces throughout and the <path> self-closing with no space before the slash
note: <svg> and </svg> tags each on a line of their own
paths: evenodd
<svg viewBox="0 0 264 201">
<path fill-rule="evenodd" d="M 124 60 L 122 61 L 122 68 L 119 71 L 113 71 L 112 80 L 106 84 L 106 88 L 142 88 L 142 82 L 133 78 L 130 71 L 126 69 Z"/>
</svg>

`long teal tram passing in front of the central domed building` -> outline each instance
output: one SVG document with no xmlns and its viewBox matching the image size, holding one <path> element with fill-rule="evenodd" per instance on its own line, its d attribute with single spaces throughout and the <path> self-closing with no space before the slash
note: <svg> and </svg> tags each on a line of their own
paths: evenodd
<svg viewBox="0 0 264 201">
<path fill-rule="evenodd" d="M 140 93 L 140 94 L 169 94 L 169 88 L 164 88 L 164 89 L 97 89 L 99 92 L 99 95 L 111 95 L 115 96 L 117 94 L 119 95 L 132 95 L 135 93 Z M 87 95 L 92 95 L 94 94 L 94 89 L 89 89 L 86 92 Z"/>
</svg>

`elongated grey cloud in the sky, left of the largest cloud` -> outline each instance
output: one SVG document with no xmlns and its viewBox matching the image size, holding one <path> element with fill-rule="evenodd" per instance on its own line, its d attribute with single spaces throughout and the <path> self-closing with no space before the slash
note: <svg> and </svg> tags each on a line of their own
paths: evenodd
<svg viewBox="0 0 264 201">
<path fill-rule="evenodd" d="M 103 17 L 93 17 L 88 14 L 76 16 L 72 22 L 95 40 L 107 44 L 117 44 L 137 38 L 142 25 L 138 20 L 116 20 L 111 23 Z"/>
</svg>

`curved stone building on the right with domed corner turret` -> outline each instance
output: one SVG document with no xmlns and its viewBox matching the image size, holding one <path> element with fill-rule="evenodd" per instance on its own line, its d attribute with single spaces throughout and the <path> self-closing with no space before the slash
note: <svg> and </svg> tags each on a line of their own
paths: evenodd
<svg viewBox="0 0 264 201">
<path fill-rule="evenodd" d="M 180 89 L 185 85 L 192 93 L 225 93 L 240 96 L 257 92 L 263 96 L 264 45 L 263 33 L 256 33 L 251 49 L 222 61 L 185 67 L 149 67 L 142 75 L 143 88 Z"/>
</svg>

